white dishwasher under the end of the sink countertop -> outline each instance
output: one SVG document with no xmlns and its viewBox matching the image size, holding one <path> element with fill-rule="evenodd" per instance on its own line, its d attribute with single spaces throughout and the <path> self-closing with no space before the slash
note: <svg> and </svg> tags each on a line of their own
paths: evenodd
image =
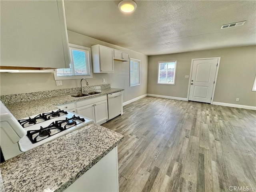
<svg viewBox="0 0 256 192">
<path fill-rule="evenodd" d="M 108 119 L 112 119 L 122 112 L 122 92 L 108 94 Z"/>
</svg>

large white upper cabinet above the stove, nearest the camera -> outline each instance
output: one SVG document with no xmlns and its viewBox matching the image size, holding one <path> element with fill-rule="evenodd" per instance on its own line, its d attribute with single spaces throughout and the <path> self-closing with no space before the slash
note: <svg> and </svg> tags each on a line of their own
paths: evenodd
<svg viewBox="0 0 256 192">
<path fill-rule="evenodd" d="M 1 68 L 69 68 L 61 0 L 0 1 Z"/>
</svg>

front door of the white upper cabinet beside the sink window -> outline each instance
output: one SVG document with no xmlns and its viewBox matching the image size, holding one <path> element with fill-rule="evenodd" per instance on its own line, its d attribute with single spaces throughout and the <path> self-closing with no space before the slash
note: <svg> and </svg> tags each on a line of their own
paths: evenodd
<svg viewBox="0 0 256 192">
<path fill-rule="evenodd" d="M 114 72 L 112 48 L 100 46 L 100 72 Z"/>
</svg>

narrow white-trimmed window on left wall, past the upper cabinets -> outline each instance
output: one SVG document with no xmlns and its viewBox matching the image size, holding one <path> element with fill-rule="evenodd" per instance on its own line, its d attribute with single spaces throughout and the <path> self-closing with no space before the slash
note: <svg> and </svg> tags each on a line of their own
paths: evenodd
<svg viewBox="0 0 256 192">
<path fill-rule="evenodd" d="M 130 58 L 130 87 L 140 85 L 140 60 Z"/>
</svg>

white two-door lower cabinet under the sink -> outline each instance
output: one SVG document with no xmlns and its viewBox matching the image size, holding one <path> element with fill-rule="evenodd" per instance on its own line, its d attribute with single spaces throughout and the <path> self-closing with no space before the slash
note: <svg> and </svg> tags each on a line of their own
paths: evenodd
<svg viewBox="0 0 256 192">
<path fill-rule="evenodd" d="M 94 120 L 96 124 L 102 124 L 108 119 L 107 96 L 100 96 L 92 99 L 76 102 L 76 112 L 84 117 Z"/>
</svg>

